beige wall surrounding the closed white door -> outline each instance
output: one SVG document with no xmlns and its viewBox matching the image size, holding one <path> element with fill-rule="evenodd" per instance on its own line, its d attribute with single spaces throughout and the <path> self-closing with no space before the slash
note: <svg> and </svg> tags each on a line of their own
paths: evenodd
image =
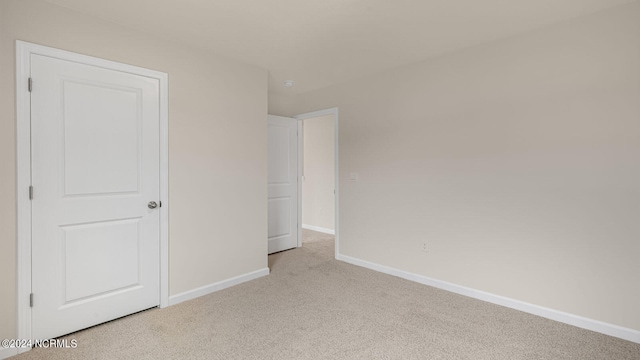
<svg viewBox="0 0 640 360">
<path fill-rule="evenodd" d="M 267 266 L 265 70 L 41 1 L 0 6 L 0 338 L 16 335 L 16 39 L 169 74 L 171 295 Z"/>
</svg>

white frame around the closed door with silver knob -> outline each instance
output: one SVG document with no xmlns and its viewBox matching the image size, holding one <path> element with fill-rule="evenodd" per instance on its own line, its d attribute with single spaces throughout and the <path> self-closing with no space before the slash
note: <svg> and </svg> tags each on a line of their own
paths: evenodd
<svg viewBox="0 0 640 360">
<path fill-rule="evenodd" d="M 169 305 L 169 95 L 166 73 L 117 63 L 23 41 L 16 41 L 16 312 L 17 338 L 31 339 L 31 101 L 29 77 L 31 55 L 117 70 L 157 79 L 160 83 L 160 307 Z M 37 88 L 37 79 L 33 86 Z M 35 190 L 37 196 L 37 189 Z M 18 349 L 19 353 L 29 348 Z"/>
</svg>

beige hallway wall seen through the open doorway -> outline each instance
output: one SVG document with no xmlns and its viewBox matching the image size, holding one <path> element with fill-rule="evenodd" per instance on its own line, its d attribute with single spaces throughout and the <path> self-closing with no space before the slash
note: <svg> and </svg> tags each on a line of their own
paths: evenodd
<svg viewBox="0 0 640 360">
<path fill-rule="evenodd" d="M 303 120 L 302 224 L 335 228 L 333 115 Z"/>
</svg>

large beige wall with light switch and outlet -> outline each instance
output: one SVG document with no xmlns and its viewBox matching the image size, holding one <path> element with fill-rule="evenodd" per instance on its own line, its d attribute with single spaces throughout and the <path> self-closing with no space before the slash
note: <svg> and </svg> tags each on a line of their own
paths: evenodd
<svg viewBox="0 0 640 360">
<path fill-rule="evenodd" d="M 340 110 L 342 254 L 640 330 L 638 2 L 297 101 Z"/>
</svg>

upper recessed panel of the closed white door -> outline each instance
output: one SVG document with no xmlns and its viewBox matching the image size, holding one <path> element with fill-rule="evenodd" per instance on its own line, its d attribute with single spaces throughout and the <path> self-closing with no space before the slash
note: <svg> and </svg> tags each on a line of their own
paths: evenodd
<svg viewBox="0 0 640 360">
<path fill-rule="evenodd" d="M 63 80 L 65 195 L 137 192 L 140 91 Z"/>
</svg>

